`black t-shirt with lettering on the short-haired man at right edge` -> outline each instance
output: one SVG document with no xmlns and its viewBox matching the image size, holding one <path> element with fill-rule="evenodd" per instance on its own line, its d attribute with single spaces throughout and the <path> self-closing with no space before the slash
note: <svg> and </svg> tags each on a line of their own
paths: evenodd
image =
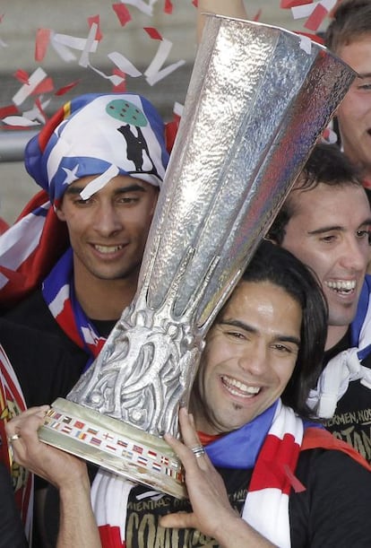
<svg viewBox="0 0 371 548">
<path fill-rule="evenodd" d="M 327 363 L 339 352 L 350 347 L 349 333 L 330 351 L 325 352 Z M 362 365 L 371 367 L 371 355 L 362 361 Z M 332 434 L 347 441 L 358 453 L 371 463 L 371 390 L 364 387 L 359 380 L 349 383 L 344 396 L 339 400 L 332 419 L 324 422 Z"/>
</svg>

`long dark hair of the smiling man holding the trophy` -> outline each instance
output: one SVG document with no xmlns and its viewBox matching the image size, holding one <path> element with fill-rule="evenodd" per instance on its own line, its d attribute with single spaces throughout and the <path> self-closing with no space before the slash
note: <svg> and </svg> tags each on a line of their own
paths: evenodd
<svg viewBox="0 0 371 548">
<path fill-rule="evenodd" d="M 323 369 L 328 321 L 327 302 L 315 274 L 287 249 L 263 240 L 242 280 L 273 283 L 302 309 L 298 360 L 281 398 L 302 417 L 313 415 L 306 399 Z"/>
</svg>

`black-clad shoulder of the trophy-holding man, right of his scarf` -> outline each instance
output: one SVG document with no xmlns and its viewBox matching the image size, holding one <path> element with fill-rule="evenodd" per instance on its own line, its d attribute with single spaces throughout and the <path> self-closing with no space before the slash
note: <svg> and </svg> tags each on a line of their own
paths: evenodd
<svg viewBox="0 0 371 548">
<path fill-rule="evenodd" d="M 305 490 L 290 494 L 292 545 L 371 546 L 371 474 L 364 466 L 341 450 L 311 448 L 300 452 L 296 475 Z"/>
</svg>

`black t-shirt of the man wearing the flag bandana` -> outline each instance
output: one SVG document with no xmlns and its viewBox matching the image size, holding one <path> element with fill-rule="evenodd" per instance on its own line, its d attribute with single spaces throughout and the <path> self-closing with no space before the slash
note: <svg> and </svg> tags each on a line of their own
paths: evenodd
<svg viewBox="0 0 371 548">
<path fill-rule="evenodd" d="M 116 323 L 91 322 L 105 337 Z M 34 291 L 0 318 L 0 343 L 12 362 L 29 407 L 51 404 L 56 397 L 66 396 L 91 358 L 58 326 L 41 291 Z"/>
</svg>

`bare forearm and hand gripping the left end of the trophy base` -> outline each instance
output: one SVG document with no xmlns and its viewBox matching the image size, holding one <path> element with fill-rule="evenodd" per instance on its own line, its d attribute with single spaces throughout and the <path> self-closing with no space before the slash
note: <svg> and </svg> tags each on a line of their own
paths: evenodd
<svg viewBox="0 0 371 548">
<path fill-rule="evenodd" d="M 6 425 L 14 460 L 52 483 L 60 494 L 57 548 L 100 548 L 99 531 L 91 509 L 91 486 L 82 460 L 39 441 L 38 429 L 48 406 L 33 407 Z"/>
</svg>

